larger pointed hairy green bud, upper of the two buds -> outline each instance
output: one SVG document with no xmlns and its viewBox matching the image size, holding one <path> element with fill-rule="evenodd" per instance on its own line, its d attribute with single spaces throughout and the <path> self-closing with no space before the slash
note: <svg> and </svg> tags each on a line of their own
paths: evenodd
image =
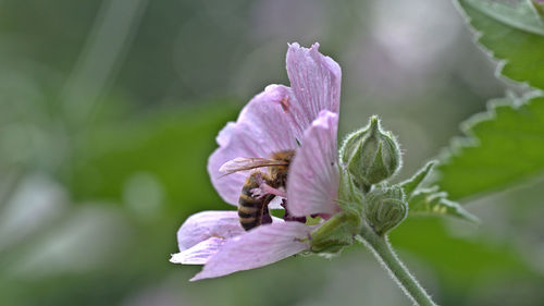
<svg viewBox="0 0 544 306">
<path fill-rule="evenodd" d="M 401 162 L 395 137 L 382 131 L 375 115 L 370 118 L 367 127 L 346 138 L 341 158 L 356 183 L 367 187 L 393 176 Z"/>
</svg>

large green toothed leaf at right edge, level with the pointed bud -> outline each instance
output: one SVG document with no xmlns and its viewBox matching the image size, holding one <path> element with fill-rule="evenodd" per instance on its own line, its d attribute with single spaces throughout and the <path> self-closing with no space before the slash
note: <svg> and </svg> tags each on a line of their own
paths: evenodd
<svg viewBox="0 0 544 306">
<path fill-rule="evenodd" d="M 437 170 L 440 188 L 458 200 L 502 191 L 544 173 L 544 97 L 505 98 L 463 125 Z"/>
</svg>

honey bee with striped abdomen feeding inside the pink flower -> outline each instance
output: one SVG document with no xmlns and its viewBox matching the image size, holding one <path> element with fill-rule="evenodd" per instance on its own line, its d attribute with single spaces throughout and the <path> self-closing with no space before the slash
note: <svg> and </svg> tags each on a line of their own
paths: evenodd
<svg viewBox="0 0 544 306">
<path fill-rule="evenodd" d="M 246 179 L 238 198 L 238 217 L 244 230 L 249 231 L 261 224 L 272 223 L 269 204 L 277 196 L 285 196 L 289 163 L 295 150 L 282 150 L 267 158 L 236 158 L 226 162 L 220 169 L 228 175 L 238 171 L 268 167 L 268 172 L 254 170 Z M 265 185 L 263 185 L 264 183 Z M 262 187 L 267 189 L 262 189 Z"/>
</svg>

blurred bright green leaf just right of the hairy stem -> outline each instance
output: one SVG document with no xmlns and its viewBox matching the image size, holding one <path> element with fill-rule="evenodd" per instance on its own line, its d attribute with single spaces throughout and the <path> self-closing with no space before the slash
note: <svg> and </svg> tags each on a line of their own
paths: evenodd
<svg viewBox="0 0 544 306">
<path fill-rule="evenodd" d="M 514 274 L 520 279 L 521 276 L 542 279 L 542 274 L 523 259 L 524 255 L 516 250 L 516 242 L 508 238 L 503 236 L 503 241 L 497 243 L 485 231 L 475 231 L 471 238 L 455 236 L 436 218 L 408 218 L 390 234 L 395 247 L 418 256 L 435 269 L 441 281 L 455 286 L 459 294 L 469 296 L 473 296 L 470 292 L 482 285 L 483 279 L 511 280 Z M 496 286 L 496 282 L 493 285 Z M 447 287 L 452 290 L 452 286 Z"/>
</svg>

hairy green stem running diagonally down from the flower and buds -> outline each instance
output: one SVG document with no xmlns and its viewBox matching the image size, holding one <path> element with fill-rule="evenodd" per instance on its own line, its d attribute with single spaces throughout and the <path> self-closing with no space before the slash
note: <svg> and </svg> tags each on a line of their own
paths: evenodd
<svg viewBox="0 0 544 306">
<path fill-rule="evenodd" d="M 361 231 L 361 236 L 364 245 L 372 250 L 378 261 L 380 261 L 382 267 L 416 305 L 436 306 L 431 296 L 419 284 L 418 280 L 398 259 L 386 236 L 378 235 L 367 225 Z"/>
</svg>

